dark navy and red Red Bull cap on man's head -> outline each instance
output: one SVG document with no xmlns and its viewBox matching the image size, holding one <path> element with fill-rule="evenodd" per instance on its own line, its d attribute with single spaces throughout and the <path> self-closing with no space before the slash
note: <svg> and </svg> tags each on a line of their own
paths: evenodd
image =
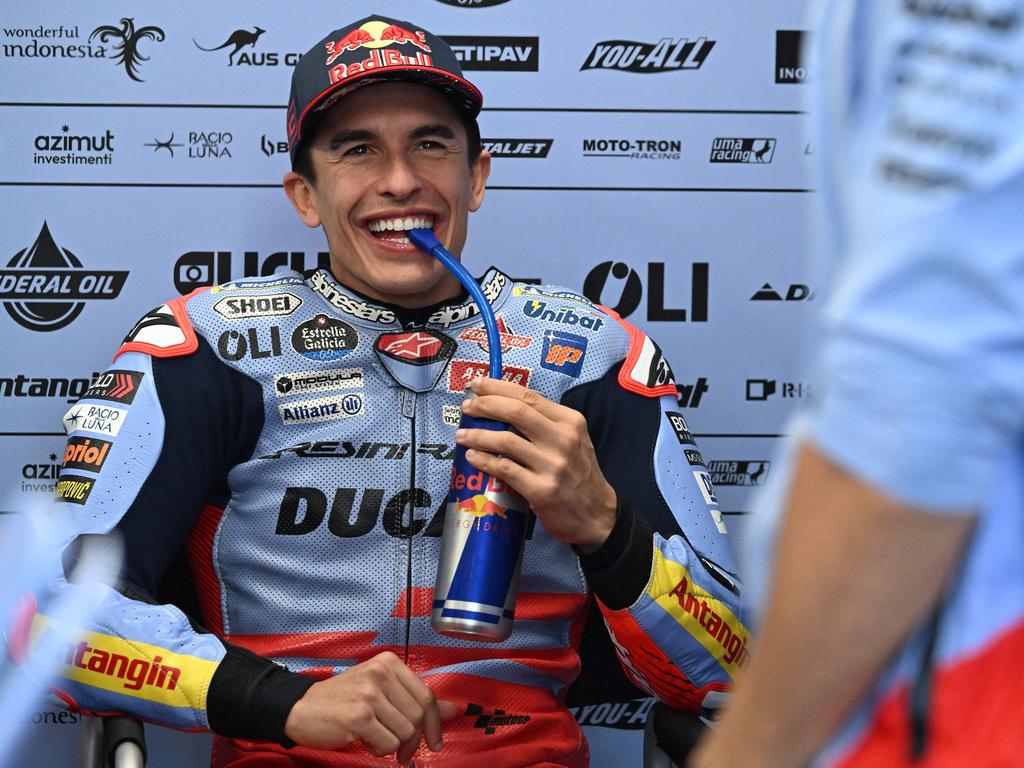
<svg viewBox="0 0 1024 768">
<path fill-rule="evenodd" d="M 483 105 L 479 89 L 462 76 L 459 59 L 441 38 L 411 22 L 367 16 L 332 32 L 295 67 L 287 117 L 292 160 L 325 110 L 381 80 L 433 86 L 470 117 L 479 115 Z"/>
</svg>

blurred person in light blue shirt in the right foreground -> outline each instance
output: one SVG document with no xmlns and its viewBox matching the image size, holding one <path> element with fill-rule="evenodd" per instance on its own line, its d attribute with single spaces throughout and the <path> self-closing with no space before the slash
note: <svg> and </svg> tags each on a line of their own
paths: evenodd
<svg viewBox="0 0 1024 768">
<path fill-rule="evenodd" d="M 818 10 L 819 396 L 752 522 L 755 657 L 690 765 L 1021 765 L 1024 4 Z"/>
</svg>

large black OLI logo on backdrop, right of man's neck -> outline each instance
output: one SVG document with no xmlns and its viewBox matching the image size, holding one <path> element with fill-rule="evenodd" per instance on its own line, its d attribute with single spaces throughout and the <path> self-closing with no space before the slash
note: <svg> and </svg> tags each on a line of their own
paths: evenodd
<svg viewBox="0 0 1024 768">
<path fill-rule="evenodd" d="M 690 264 L 690 306 L 689 310 L 666 306 L 665 263 L 651 261 L 647 264 L 647 319 L 656 323 L 708 322 L 709 264 L 696 261 Z M 609 280 L 612 279 L 612 280 Z M 610 293 L 608 283 L 620 284 L 618 300 L 608 301 L 605 293 Z M 587 274 L 583 293 L 591 301 L 611 307 L 623 317 L 633 314 L 644 294 L 644 284 L 636 269 L 622 261 L 602 261 Z"/>
</svg>

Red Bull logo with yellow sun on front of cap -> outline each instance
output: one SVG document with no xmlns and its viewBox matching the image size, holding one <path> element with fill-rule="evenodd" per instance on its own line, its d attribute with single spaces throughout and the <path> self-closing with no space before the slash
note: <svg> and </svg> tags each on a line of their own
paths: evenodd
<svg viewBox="0 0 1024 768">
<path fill-rule="evenodd" d="M 391 46 L 402 47 L 399 49 Z M 325 65 L 331 67 L 329 75 L 332 83 L 382 67 L 433 67 L 430 46 L 427 45 L 427 37 L 423 32 L 419 30 L 412 32 L 404 27 L 387 25 L 383 22 L 367 22 L 340 40 L 328 42 L 325 47 L 327 49 Z M 343 60 L 335 65 L 341 56 L 351 59 L 352 56 L 345 54 L 349 51 L 358 51 L 360 48 L 368 49 L 369 55 L 366 58 Z M 408 53 L 412 55 L 407 55 Z M 362 52 L 358 55 L 362 55 Z M 325 106 L 329 103 L 330 99 Z"/>
</svg>

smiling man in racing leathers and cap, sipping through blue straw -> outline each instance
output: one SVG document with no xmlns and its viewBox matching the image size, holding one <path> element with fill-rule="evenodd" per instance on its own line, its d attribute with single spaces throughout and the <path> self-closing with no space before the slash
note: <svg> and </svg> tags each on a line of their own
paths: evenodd
<svg viewBox="0 0 1024 768">
<path fill-rule="evenodd" d="M 164 304 L 66 417 L 59 513 L 119 531 L 127 558 L 69 648 L 69 701 L 212 730 L 215 765 L 585 766 L 564 696 L 592 594 L 629 679 L 672 706 L 715 706 L 744 666 L 725 527 L 657 346 L 492 268 L 505 380 L 480 378 L 478 307 L 404 237 L 461 253 L 489 170 L 480 103 L 409 23 L 371 16 L 302 57 L 285 188 L 331 270 Z M 460 408 L 516 431 L 456 432 Z M 501 644 L 430 627 L 455 442 L 537 516 Z M 162 604 L 179 573 L 193 620 Z"/>
</svg>

